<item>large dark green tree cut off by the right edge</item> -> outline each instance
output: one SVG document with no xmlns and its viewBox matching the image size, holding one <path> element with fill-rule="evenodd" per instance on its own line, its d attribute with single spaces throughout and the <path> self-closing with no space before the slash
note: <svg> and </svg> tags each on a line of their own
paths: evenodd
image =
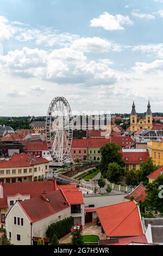
<svg viewBox="0 0 163 256">
<path fill-rule="evenodd" d="M 146 186 L 147 197 L 145 198 L 143 205 L 147 207 L 149 212 L 159 211 L 163 214 L 163 192 L 161 189 L 163 185 L 163 175 L 160 175 L 156 180 L 148 183 Z"/>
</svg>

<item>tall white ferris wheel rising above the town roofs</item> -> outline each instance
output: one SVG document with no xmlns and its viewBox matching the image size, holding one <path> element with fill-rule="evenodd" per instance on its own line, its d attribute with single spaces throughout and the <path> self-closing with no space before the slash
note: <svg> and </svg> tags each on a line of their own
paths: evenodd
<svg viewBox="0 0 163 256">
<path fill-rule="evenodd" d="M 72 162 L 73 121 L 70 105 L 64 97 L 55 97 L 46 117 L 46 139 L 54 165 Z"/>
</svg>

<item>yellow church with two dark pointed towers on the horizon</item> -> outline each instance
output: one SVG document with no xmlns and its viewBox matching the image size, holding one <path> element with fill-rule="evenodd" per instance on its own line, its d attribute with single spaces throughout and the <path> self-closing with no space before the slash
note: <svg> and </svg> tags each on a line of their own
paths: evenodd
<svg viewBox="0 0 163 256">
<path fill-rule="evenodd" d="M 147 105 L 147 112 L 145 118 L 140 118 L 140 120 L 137 122 L 137 114 L 135 110 L 135 104 L 133 102 L 132 105 L 132 111 L 130 115 L 130 132 L 134 133 L 136 130 L 139 129 L 152 129 L 152 111 L 151 111 L 151 105 L 148 102 Z"/>
</svg>

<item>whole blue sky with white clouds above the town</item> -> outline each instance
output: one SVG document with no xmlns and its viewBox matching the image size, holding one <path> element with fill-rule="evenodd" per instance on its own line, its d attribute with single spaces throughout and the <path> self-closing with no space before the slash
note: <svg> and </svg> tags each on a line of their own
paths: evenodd
<svg viewBox="0 0 163 256">
<path fill-rule="evenodd" d="M 0 0 L 0 115 L 163 112 L 163 0 Z"/>
</svg>

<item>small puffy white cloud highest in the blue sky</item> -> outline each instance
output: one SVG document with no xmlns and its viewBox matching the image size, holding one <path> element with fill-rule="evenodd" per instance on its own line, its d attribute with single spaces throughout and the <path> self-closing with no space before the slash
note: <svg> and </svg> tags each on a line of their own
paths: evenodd
<svg viewBox="0 0 163 256">
<path fill-rule="evenodd" d="M 93 18 L 90 21 L 91 27 L 103 27 L 105 30 L 122 30 L 123 25 L 133 25 L 133 21 L 129 16 L 123 16 L 121 14 L 111 15 L 106 11 L 97 18 Z"/>
</svg>

